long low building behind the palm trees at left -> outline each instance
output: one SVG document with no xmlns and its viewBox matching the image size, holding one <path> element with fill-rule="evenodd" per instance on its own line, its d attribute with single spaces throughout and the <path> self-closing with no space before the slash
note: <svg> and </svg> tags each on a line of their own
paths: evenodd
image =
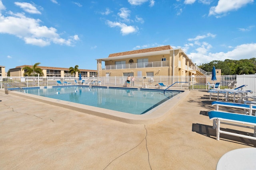
<svg viewBox="0 0 256 170">
<path fill-rule="evenodd" d="M 23 66 L 16 66 L 15 68 L 10 69 L 10 76 L 24 76 L 24 72 L 26 70 L 23 70 L 25 66 L 29 65 L 23 65 Z M 32 66 L 29 66 L 32 67 Z M 67 76 L 78 76 L 78 72 L 76 72 L 76 75 L 71 75 L 69 73 L 69 68 L 60 68 L 60 67 L 47 67 L 47 66 L 38 66 L 39 68 L 42 69 L 42 72 L 44 73 L 44 76 L 46 77 L 67 77 Z M 79 69 L 81 72 L 81 76 L 86 76 L 86 77 L 92 77 L 92 76 L 97 76 L 97 71 L 96 70 L 85 70 L 85 69 Z"/>
</svg>

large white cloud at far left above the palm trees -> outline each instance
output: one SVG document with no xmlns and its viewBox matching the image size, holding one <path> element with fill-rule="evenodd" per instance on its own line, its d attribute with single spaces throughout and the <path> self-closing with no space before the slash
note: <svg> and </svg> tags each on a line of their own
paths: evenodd
<svg viewBox="0 0 256 170">
<path fill-rule="evenodd" d="M 28 18 L 22 13 L 9 14 L 7 17 L 0 15 L 0 33 L 15 35 L 27 44 L 44 47 L 53 42 L 70 46 L 78 39 L 77 35 L 70 39 L 60 38 L 57 29 L 40 25 L 39 19 Z"/>
</svg>

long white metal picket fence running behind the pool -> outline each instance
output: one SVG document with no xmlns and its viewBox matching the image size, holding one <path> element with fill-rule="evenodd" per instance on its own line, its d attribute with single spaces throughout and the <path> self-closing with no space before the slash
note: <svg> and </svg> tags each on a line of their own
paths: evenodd
<svg viewBox="0 0 256 170">
<path fill-rule="evenodd" d="M 253 74 L 254 75 L 254 74 Z M 223 88 L 227 88 L 228 84 L 234 80 L 237 80 L 238 75 L 225 75 L 225 76 L 216 76 L 217 80 L 212 81 L 211 76 L 134 76 L 134 81 L 130 82 L 130 86 L 134 87 L 149 87 L 154 88 L 158 83 L 163 83 L 166 85 L 166 87 L 173 84 L 171 88 L 175 89 L 198 89 L 198 90 L 207 90 L 208 86 L 207 83 L 210 82 L 210 84 L 214 84 L 216 82 L 221 82 L 221 86 Z M 239 75 L 240 77 L 243 75 Z M 243 76 L 243 82 L 246 78 L 246 75 Z M 151 79 L 153 78 L 153 80 Z M 108 76 L 108 77 L 83 77 L 83 80 L 85 80 L 86 84 L 95 81 L 100 82 L 100 85 L 102 86 L 124 86 L 127 76 Z M 240 78 L 241 79 L 241 78 Z M 254 79 L 255 75 L 254 75 Z M 78 77 L 39 77 L 39 76 L 26 76 L 26 77 L 20 77 L 20 76 L 12 76 L 12 77 L 1 77 L 0 76 L 0 88 L 4 88 L 4 84 L 7 84 L 8 88 L 14 88 L 14 87 L 38 87 L 38 86 L 56 86 L 58 85 L 56 83 L 56 80 L 60 80 L 61 82 L 69 82 L 71 84 L 75 84 L 74 80 L 78 81 Z M 242 81 L 242 79 L 241 79 Z M 238 85 L 244 84 L 243 82 L 238 81 Z M 175 83 L 175 82 L 182 82 L 182 83 Z M 187 82 L 187 83 L 184 83 Z M 246 81 L 246 82 L 252 82 L 252 81 Z M 175 84 L 174 84 L 175 83 Z M 98 83 L 99 84 L 99 83 Z M 255 81 L 253 91 L 255 88 Z"/>
</svg>

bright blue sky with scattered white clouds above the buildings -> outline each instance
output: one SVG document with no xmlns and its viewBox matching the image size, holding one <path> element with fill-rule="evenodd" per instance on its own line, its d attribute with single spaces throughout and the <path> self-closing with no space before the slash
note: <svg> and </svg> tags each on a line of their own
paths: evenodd
<svg viewBox="0 0 256 170">
<path fill-rule="evenodd" d="M 0 0 L 0 65 L 97 69 L 170 45 L 194 63 L 256 57 L 254 0 Z"/>
</svg>

